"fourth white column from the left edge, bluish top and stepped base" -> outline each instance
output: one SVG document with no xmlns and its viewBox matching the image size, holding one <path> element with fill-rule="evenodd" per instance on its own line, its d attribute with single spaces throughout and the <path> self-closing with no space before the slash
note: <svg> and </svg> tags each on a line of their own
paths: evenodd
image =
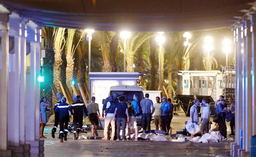
<svg viewBox="0 0 256 157">
<path fill-rule="evenodd" d="M 36 29 L 37 25 L 32 21 L 27 23 L 28 37 L 30 43 L 30 71 L 26 74 L 26 144 L 30 145 L 31 156 L 39 154 L 39 104 L 36 99 Z M 39 89 L 37 89 L 39 90 Z"/>
</svg>

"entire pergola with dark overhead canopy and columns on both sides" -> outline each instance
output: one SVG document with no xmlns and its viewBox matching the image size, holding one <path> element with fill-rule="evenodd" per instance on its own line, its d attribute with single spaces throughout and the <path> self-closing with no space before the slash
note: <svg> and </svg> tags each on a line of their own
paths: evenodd
<svg viewBox="0 0 256 157">
<path fill-rule="evenodd" d="M 249 154 L 250 137 L 256 134 L 253 0 L 0 0 L 0 3 L 1 153 L 8 156 L 20 149 L 21 156 L 43 155 L 44 141 L 39 139 L 38 123 L 40 84 L 36 81 L 40 74 L 40 37 L 43 26 L 56 26 L 134 32 L 229 27 L 234 31 L 236 43 L 236 143 L 231 146 L 231 154 Z M 9 54 L 9 36 L 14 39 L 14 54 Z M 27 42 L 31 53 L 29 73 L 26 73 Z"/>
</svg>

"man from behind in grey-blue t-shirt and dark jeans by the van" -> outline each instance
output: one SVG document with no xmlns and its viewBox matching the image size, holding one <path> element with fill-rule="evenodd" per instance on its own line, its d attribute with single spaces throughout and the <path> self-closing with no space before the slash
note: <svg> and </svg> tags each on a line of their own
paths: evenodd
<svg viewBox="0 0 256 157">
<path fill-rule="evenodd" d="M 143 130 L 150 130 L 150 122 L 154 113 L 153 101 L 149 99 L 149 94 L 145 94 L 145 98 L 141 100 L 142 108 L 142 127 Z"/>
</svg>

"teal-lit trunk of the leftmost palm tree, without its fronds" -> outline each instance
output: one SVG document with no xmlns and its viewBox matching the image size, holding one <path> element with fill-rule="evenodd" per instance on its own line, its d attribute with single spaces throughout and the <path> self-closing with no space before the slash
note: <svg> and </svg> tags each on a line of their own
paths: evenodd
<svg viewBox="0 0 256 157">
<path fill-rule="evenodd" d="M 50 86 L 50 83 L 53 83 L 53 64 L 54 64 L 54 51 L 50 49 L 45 49 L 45 58 L 44 58 L 44 65 L 43 65 L 45 82 L 44 82 L 43 89 L 45 89 L 44 93 L 45 93 L 45 96 L 47 96 L 47 100 L 54 107 L 54 104 L 52 102 L 52 90 Z M 52 112 L 50 112 L 49 115 L 47 115 L 47 117 L 51 115 L 52 115 Z"/>
</svg>

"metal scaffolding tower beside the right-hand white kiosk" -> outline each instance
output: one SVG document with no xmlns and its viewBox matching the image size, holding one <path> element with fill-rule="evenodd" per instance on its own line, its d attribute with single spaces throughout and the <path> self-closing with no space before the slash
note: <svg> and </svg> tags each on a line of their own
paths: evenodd
<svg viewBox="0 0 256 157">
<path fill-rule="evenodd" d="M 222 92 L 226 101 L 235 99 L 235 67 L 222 67 Z"/>
</svg>

